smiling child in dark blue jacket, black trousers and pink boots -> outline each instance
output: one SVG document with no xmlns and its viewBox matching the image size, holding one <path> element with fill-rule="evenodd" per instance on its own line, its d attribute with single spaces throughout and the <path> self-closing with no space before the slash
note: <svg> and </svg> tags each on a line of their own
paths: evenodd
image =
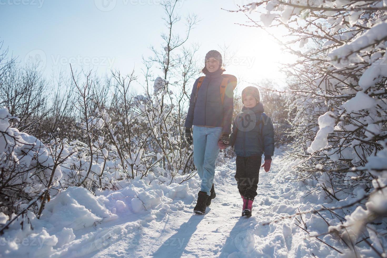
<svg viewBox="0 0 387 258">
<path fill-rule="evenodd" d="M 235 179 L 243 199 L 242 216 L 250 217 L 254 197 L 257 196 L 259 168 L 265 154 L 265 171 L 270 170 L 274 154 L 274 129 L 271 119 L 264 113 L 258 88 L 248 86 L 242 91 L 242 112 L 236 115 L 230 143 L 236 152 Z M 218 142 L 219 148 L 227 147 Z"/>
</svg>

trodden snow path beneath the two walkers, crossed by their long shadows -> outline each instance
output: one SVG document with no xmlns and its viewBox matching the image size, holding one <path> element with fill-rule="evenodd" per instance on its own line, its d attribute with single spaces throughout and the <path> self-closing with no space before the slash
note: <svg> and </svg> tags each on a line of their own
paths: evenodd
<svg viewBox="0 0 387 258">
<path fill-rule="evenodd" d="M 69 246 L 63 254 L 84 256 L 85 250 L 79 251 L 84 249 L 80 242 L 88 245 L 102 237 L 101 246 L 88 257 L 301 257 L 305 253 L 300 253 L 298 247 L 305 232 L 293 222 L 288 219 L 262 225 L 293 214 L 298 207 L 298 191 L 294 185 L 292 188 L 285 183 L 279 173 L 284 165 L 279 155 L 274 157 L 269 173 L 260 170 L 258 196 L 250 218 L 240 216 L 242 201 L 233 177 L 234 160 L 217 167 L 217 195 L 205 215 L 192 213 L 193 200 L 173 212 L 163 212 L 170 209 L 168 206 L 152 214 L 142 214 L 137 220 L 130 220 L 133 216 L 121 217 L 101 224 L 98 231 L 76 233 L 78 244 Z"/>
</svg>

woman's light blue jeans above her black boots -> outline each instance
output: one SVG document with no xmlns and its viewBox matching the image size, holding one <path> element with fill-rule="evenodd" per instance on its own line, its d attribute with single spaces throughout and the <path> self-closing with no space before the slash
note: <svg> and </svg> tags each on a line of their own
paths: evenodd
<svg viewBox="0 0 387 258">
<path fill-rule="evenodd" d="M 215 175 L 215 161 L 219 154 L 217 142 L 222 134 L 222 127 L 193 126 L 194 164 L 202 180 L 201 191 L 211 195 Z"/>
</svg>

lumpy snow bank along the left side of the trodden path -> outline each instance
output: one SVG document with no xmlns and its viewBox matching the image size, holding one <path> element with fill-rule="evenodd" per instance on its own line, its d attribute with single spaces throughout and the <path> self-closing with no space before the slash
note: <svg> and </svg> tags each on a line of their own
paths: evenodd
<svg viewBox="0 0 387 258">
<path fill-rule="evenodd" d="M 148 178 L 141 179 L 140 176 L 130 183 L 122 183 L 122 189 L 101 191 L 97 196 L 84 187 L 72 186 L 61 191 L 46 203 L 40 219 L 28 212 L 26 217 L 19 217 L 10 224 L 5 234 L 0 236 L 0 243 L 7 243 L 2 247 L 2 254 L 14 257 L 86 255 L 104 248 L 104 243 L 98 240 L 101 237 L 109 236 L 109 241 L 118 241 L 125 234 L 136 231 L 139 223 L 154 219 L 149 214 L 181 210 L 183 202 L 192 203 L 199 187 L 197 176 L 182 185 L 151 183 Z M 138 214 L 135 218 L 140 222 L 100 232 L 99 228 L 106 222 L 131 214 Z M 0 212 L 0 223 L 5 224 L 8 220 L 9 217 Z M 21 222 L 25 225 L 23 229 L 20 228 Z M 90 238 L 77 240 L 77 232 L 82 230 L 91 231 Z"/>
</svg>

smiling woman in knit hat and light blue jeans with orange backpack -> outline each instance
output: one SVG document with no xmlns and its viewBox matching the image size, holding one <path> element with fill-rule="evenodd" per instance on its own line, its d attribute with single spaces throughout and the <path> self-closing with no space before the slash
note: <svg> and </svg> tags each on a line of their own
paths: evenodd
<svg viewBox="0 0 387 258">
<path fill-rule="evenodd" d="M 222 67 L 222 55 L 211 50 L 205 55 L 204 80 L 198 88 L 196 79 L 190 97 L 187 118 L 185 120 L 185 138 L 192 144 L 191 128 L 193 126 L 194 164 L 201 179 L 201 190 L 198 193 L 194 212 L 204 214 L 205 207 L 215 198 L 214 184 L 215 161 L 219 154 L 218 141 L 229 144 L 231 119 L 233 115 L 233 86 L 226 84 L 224 99 L 221 87 L 225 69 Z"/>
</svg>

